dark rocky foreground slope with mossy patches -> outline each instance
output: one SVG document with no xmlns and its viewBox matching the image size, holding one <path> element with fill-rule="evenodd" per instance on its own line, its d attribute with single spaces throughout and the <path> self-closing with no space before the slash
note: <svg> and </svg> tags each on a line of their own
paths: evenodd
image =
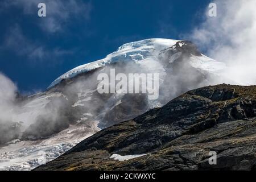
<svg viewBox="0 0 256 182">
<path fill-rule="evenodd" d="M 217 165 L 209 165 L 209 151 Z M 147 154 L 119 162 L 112 154 Z M 256 86 L 191 90 L 36 170 L 256 170 Z"/>
</svg>

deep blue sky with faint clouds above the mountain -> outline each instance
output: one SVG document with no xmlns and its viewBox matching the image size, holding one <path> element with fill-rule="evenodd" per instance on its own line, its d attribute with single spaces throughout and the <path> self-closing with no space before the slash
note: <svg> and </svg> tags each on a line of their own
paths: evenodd
<svg viewBox="0 0 256 182">
<path fill-rule="evenodd" d="M 38 17 L 38 3 L 47 16 Z M 104 58 L 123 43 L 182 39 L 210 1 L 2 0 L 0 72 L 21 92 L 44 90 L 63 73 Z"/>
</svg>

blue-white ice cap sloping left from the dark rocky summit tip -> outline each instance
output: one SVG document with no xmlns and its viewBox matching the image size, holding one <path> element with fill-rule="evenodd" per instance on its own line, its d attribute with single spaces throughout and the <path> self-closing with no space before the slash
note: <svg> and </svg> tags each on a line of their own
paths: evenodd
<svg viewBox="0 0 256 182">
<path fill-rule="evenodd" d="M 48 89 L 59 84 L 63 79 L 72 78 L 79 73 L 89 72 L 93 69 L 104 67 L 106 64 L 113 64 L 117 61 L 143 60 L 149 56 L 158 55 L 159 52 L 168 47 L 174 46 L 179 40 L 172 39 L 145 39 L 137 42 L 126 43 L 120 46 L 117 51 L 110 53 L 104 59 L 80 65 L 58 77 L 49 85 Z"/>
</svg>

